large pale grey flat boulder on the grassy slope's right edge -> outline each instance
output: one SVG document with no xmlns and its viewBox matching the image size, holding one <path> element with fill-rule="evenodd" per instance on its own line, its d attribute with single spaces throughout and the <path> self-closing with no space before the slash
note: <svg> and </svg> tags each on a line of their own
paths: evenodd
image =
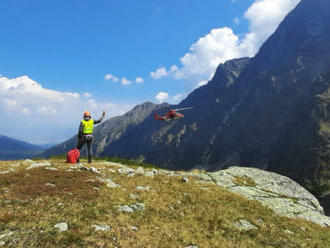
<svg viewBox="0 0 330 248">
<path fill-rule="evenodd" d="M 318 200 L 288 177 L 256 168 L 230 167 L 196 174 L 195 178 L 259 201 L 281 216 L 303 218 L 321 226 L 330 226 L 330 217 L 324 215 Z"/>
</svg>

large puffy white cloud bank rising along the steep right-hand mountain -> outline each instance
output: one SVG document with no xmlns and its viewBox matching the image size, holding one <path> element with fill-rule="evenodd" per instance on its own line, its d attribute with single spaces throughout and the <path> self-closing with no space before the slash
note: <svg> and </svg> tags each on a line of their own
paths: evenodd
<svg viewBox="0 0 330 248">
<path fill-rule="evenodd" d="M 181 57 L 181 66 L 167 70 L 158 68 L 150 75 L 154 79 L 172 76 L 196 83 L 210 79 L 217 66 L 227 60 L 254 56 L 265 40 L 275 31 L 284 17 L 300 0 L 255 0 L 245 12 L 249 31 L 235 34 L 229 27 L 212 29 L 210 33 L 192 44 L 189 52 Z M 235 1 L 232 1 L 235 2 Z M 239 19 L 234 19 L 238 23 Z"/>
</svg>

